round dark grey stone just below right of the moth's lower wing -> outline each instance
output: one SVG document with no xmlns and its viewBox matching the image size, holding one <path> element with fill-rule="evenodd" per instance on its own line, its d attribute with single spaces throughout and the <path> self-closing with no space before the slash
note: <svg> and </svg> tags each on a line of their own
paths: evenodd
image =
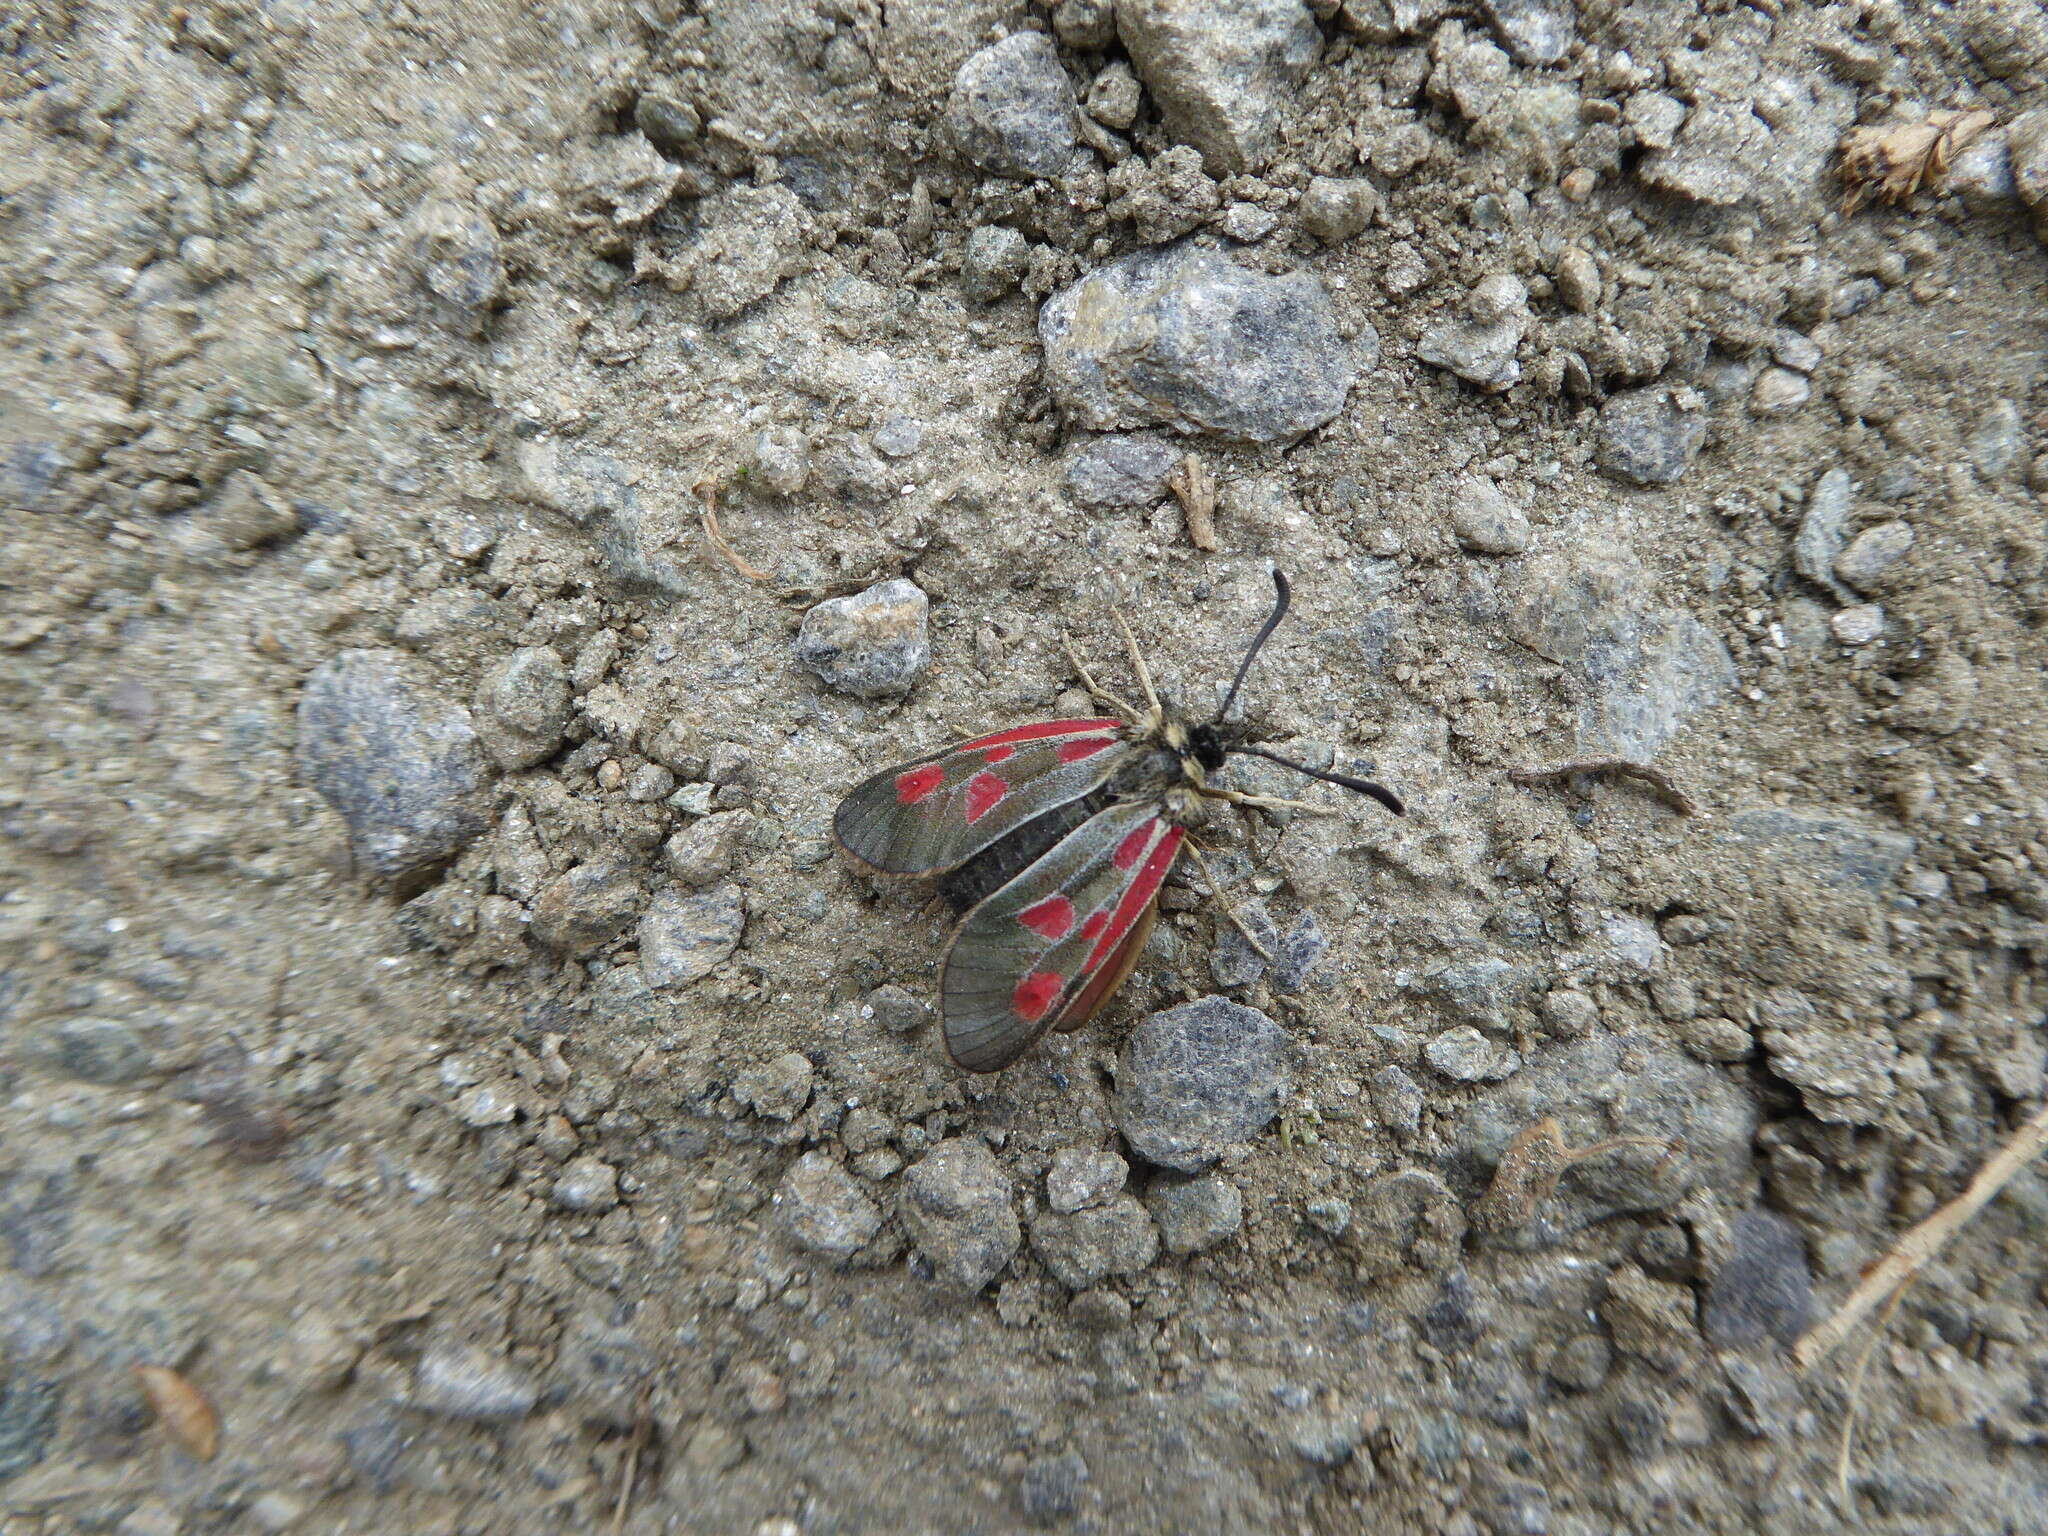
<svg viewBox="0 0 2048 1536">
<path fill-rule="evenodd" d="M 1153 1014 L 1124 1040 L 1116 1124 L 1145 1161 L 1198 1174 L 1280 1112 L 1288 1053 L 1286 1030 L 1223 997 Z"/>
</svg>

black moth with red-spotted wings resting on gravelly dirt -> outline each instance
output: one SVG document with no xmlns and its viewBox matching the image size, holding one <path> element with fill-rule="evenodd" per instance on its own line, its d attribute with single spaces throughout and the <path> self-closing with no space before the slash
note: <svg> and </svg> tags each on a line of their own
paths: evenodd
<svg viewBox="0 0 2048 1536">
<path fill-rule="evenodd" d="M 965 913 L 940 977 L 946 1053 L 956 1065 L 999 1071 L 1047 1030 L 1077 1030 L 1096 1016 L 1137 965 L 1182 850 L 1200 860 L 1190 827 L 1208 801 L 1298 807 L 1212 782 L 1231 758 L 1278 762 L 1405 815 L 1382 784 L 1249 745 L 1229 721 L 1251 662 L 1288 610 L 1278 569 L 1274 592 L 1274 610 L 1210 721 L 1190 723 L 1159 702 L 1118 614 L 1147 709 L 1100 688 L 1069 647 L 1087 692 L 1114 715 L 961 741 L 885 768 L 840 803 L 834 836 L 856 866 L 936 879 Z M 1214 879 L 1208 887 L 1221 899 Z"/>
</svg>

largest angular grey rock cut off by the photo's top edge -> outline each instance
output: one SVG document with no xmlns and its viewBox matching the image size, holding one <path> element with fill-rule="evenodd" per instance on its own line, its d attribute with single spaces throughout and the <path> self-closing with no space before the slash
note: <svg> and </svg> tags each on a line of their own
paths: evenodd
<svg viewBox="0 0 2048 1536">
<path fill-rule="evenodd" d="M 1116 31 L 1167 131 L 1212 176 L 1272 160 L 1323 47 L 1300 0 L 1118 0 Z"/>
</svg>

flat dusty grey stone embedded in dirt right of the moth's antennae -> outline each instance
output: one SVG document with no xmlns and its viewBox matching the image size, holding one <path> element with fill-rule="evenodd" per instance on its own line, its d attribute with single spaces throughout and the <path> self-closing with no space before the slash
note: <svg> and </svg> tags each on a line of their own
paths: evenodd
<svg viewBox="0 0 2048 1536">
<path fill-rule="evenodd" d="M 1509 633 L 1579 678 L 1583 756 L 1649 762 L 1735 686 L 1735 657 L 1690 612 L 1657 606 L 1640 571 L 1593 541 L 1526 561 Z"/>
</svg>

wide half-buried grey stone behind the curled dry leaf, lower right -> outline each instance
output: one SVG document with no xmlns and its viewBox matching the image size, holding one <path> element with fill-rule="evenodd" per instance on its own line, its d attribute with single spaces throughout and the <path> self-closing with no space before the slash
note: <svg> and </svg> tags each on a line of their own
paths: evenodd
<svg viewBox="0 0 2048 1536">
<path fill-rule="evenodd" d="M 1616 1214 L 1669 1210 L 1696 1184 L 1741 1188 L 1749 1178 L 1757 1104 L 1726 1073 L 1647 1034 L 1591 1034 L 1536 1051 L 1524 1069 L 1477 1100 L 1448 1133 L 1473 1184 L 1491 1182 L 1507 1143 L 1554 1118 L 1567 1147 L 1610 1137 L 1616 1147 L 1573 1163 L 1534 1217 L 1489 1241 L 1548 1247 Z"/>
</svg>

